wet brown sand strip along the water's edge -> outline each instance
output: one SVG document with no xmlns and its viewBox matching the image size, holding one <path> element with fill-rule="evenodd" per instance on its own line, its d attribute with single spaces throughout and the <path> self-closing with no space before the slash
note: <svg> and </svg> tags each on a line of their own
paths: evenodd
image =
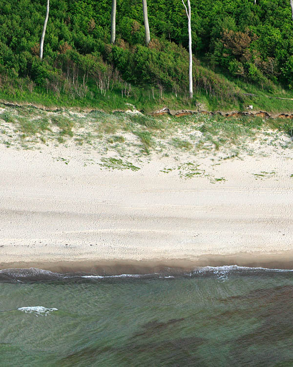
<svg viewBox="0 0 293 367">
<path fill-rule="evenodd" d="M 223 267 L 236 265 L 248 268 L 276 270 L 293 269 L 293 251 L 278 253 L 254 252 L 231 255 L 202 255 L 197 260 L 152 259 L 152 260 L 56 260 L 0 262 L 1 270 L 40 269 L 59 274 L 86 273 L 93 275 L 154 274 L 167 272 L 191 272 L 202 267 Z"/>
</svg>

